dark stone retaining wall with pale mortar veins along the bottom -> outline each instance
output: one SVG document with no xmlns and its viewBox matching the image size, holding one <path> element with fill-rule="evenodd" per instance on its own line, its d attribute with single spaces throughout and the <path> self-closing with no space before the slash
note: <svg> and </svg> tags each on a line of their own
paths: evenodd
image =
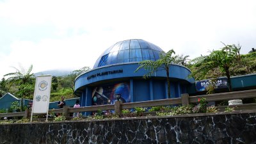
<svg viewBox="0 0 256 144">
<path fill-rule="evenodd" d="M 255 112 L 0 124 L 0 143 L 255 143 Z"/>
</svg>

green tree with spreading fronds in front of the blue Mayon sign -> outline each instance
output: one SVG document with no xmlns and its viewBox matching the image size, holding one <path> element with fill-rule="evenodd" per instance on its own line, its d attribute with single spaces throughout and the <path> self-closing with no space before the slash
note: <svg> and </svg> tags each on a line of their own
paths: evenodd
<svg viewBox="0 0 256 144">
<path fill-rule="evenodd" d="M 225 45 L 225 44 L 224 44 Z M 205 77 L 207 74 L 220 70 L 222 75 L 227 76 L 228 90 L 232 92 L 230 79 L 230 67 L 240 60 L 239 51 L 241 46 L 225 45 L 218 51 L 211 51 L 208 56 L 201 56 L 192 61 L 192 76 L 195 79 Z M 214 77 L 215 78 L 215 77 Z"/>
</svg>

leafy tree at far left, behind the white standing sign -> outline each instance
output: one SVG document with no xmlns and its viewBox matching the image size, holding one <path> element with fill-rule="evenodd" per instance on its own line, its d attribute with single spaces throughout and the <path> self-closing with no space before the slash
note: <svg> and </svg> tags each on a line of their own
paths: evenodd
<svg viewBox="0 0 256 144">
<path fill-rule="evenodd" d="M 21 109 L 23 108 L 23 99 L 26 95 L 32 95 L 35 87 L 35 79 L 33 79 L 33 74 L 31 71 L 33 69 L 33 65 L 31 65 L 28 70 L 25 70 L 24 67 L 20 66 L 20 70 L 15 68 L 16 72 L 5 74 L 4 77 L 8 77 L 6 81 L 13 85 L 15 84 L 18 87 L 18 92 L 16 94 L 21 97 Z"/>
</svg>

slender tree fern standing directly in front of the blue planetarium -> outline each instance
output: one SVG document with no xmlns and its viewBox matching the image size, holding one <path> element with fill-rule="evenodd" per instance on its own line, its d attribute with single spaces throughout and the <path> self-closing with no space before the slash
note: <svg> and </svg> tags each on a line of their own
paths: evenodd
<svg viewBox="0 0 256 144">
<path fill-rule="evenodd" d="M 172 54 L 175 54 L 175 51 L 171 49 L 168 52 L 161 52 L 159 60 L 152 61 L 152 60 L 145 60 L 140 61 L 139 65 L 135 72 L 140 70 L 141 68 L 144 68 L 145 70 L 148 70 L 148 72 L 143 76 L 144 79 L 147 79 L 149 76 L 152 76 L 154 72 L 157 72 L 158 70 L 165 70 L 166 71 L 166 80 L 168 84 L 168 98 L 171 98 L 170 93 L 170 79 L 169 79 L 169 70 L 170 66 L 172 65 L 173 61 L 175 61 L 175 57 L 172 56 Z"/>
</svg>

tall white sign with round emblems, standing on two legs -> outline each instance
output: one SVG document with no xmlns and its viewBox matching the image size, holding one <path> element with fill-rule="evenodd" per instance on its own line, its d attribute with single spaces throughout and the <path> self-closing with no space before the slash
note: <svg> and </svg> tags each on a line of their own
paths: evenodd
<svg viewBox="0 0 256 144">
<path fill-rule="evenodd" d="M 51 82 L 52 76 L 36 77 L 30 122 L 32 122 L 33 113 L 46 113 L 46 121 L 48 120 Z"/>
</svg>

